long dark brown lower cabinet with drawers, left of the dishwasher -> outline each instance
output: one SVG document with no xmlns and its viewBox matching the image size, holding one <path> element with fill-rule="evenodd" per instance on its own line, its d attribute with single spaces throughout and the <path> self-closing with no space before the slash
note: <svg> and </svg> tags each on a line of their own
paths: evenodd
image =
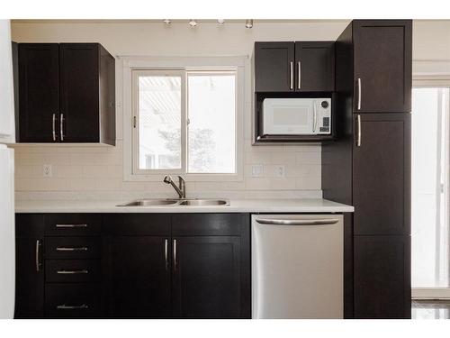
<svg viewBox="0 0 450 338">
<path fill-rule="evenodd" d="M 15 318 L 250 318 L 249 222 L 18 214 Z"/>
</svg>

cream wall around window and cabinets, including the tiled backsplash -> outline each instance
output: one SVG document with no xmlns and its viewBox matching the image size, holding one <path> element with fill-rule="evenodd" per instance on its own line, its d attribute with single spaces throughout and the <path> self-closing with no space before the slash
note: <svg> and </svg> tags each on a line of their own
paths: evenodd
<svg viewBox="0 0 450 338">
<path fill-rule="evenodd" d="M 302 21 L 255 23 L 187 22 L 166 27 L 159 22 L 13 23 L 18 42 L 100 42 L 113 55 L 251 55 L 254 41 L 336 40 L 349 23 Z M 450 21 L 414 23 L 414 59 L 450 59 Z M 120 71 L 120 62 L 117 62 Z M 119 78 L 119 77 L 118 77 Z M 163 183 L 122 181 L 121 92 L 117 93 L 118 145 L 115 149 L 26 147 L 16 155 L 17 198 L 173 196 Z M 250 97 L 246 100 L 244 180 L 189 182 L 188 195 L 199 196 L 320 196 L 320 145 L 251 146 Z M 42 178 L 42 164 L 53 165 L 53 178 Z M 251 165 L 265 165 L 262 178 L 251 177 Z M 286 166 L 286 177 L 275 178 L 275 165 Z M 261 190 L 264 190 L 261 191 Z"/>
</svg>

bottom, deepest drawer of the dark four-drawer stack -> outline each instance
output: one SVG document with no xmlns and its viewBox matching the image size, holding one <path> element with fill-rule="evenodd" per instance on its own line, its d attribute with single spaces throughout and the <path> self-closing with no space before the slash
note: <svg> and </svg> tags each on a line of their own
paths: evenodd
<svg viewBox="0 0 450 338">
<path fill-rule="evenodd" d="M 93 318 L 102 314 L 99 284 L 48 284 L 45 315 L 53 318 Z"/>
</svg>

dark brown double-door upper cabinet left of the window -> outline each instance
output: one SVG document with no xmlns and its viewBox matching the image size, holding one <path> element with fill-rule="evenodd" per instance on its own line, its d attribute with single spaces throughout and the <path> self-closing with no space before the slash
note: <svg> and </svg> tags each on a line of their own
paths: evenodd
<svg viewBox="0 0 450 338">
<path fill-rule="evenodd" d="M 115 144 L 115 60 L 99 43 L 19 44 L 17 142 Z"/>
</svg>

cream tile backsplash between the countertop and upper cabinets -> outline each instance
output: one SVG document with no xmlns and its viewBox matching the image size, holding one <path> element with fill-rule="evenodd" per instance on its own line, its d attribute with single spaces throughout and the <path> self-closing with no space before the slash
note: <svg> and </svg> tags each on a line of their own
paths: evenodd
<svg viewBox="0 0 450 338">
<path fill-rule="evenodd" d="M 248 143 L 248 144 L 247 144 Z M 244 146 L 240 181 L 186 183 L 187 196 L 320 197 L 320 145 Z M 106 146 L 15 146 L 16 199 L 127 199 L 175 196 L 162 182 L 123 180 L 122 142 Z M 44 177 L 51 165 L 51 177 Z M 253 172 L 253 166 L 262 172 Z M 280 169 L 280 167 L 282 167 Z"/>
</svg>

